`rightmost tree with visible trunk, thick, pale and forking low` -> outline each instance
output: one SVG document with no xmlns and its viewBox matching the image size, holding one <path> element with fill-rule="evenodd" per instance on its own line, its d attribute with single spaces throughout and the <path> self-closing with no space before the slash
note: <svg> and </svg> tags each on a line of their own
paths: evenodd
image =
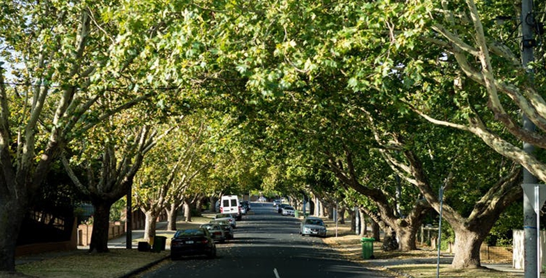
<svg viewBox="0 0 546 278">
<path fill-rule="evenodd" d="M 385 161 L 399 177 L 419 188 L 436 211 L 441 202 L 437 192 L 443 188 L 442 215 L 455 233 L 452 266 L 479 267 L 483 240 L 505 208 L 522 197 L 521 167 L 464 133 L 411 121 L 409 115 L 397 124 L 396 117 L 385 120 L 384 111 L 374 113 L 383 119 L 380 124 L 372 113 L 367 115 Z"/>
</svg>

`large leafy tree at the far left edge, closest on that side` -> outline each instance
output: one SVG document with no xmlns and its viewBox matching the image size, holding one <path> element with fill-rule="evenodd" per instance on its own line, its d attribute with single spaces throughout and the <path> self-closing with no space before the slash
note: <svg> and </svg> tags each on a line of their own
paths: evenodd
<svg viewBox="0 0 546 278">
<path fill-rule="evenodd" d="M 134 38 L 97 17 L 101 6 L 100 1 L 1 6 L 1 54 L 9 64 L 0 65 L 0 271 L 15 270 L 23 215 L 65 145 L 149 96 L 113 90 L 112 76 L 128 72 L 142 41 L 154 32 L 142 24 L 146 36 Z M 12 80 L 4 78 L 6 70 Z M 109 106 L 101 99 L 110 99 Z"/>
</svg>

